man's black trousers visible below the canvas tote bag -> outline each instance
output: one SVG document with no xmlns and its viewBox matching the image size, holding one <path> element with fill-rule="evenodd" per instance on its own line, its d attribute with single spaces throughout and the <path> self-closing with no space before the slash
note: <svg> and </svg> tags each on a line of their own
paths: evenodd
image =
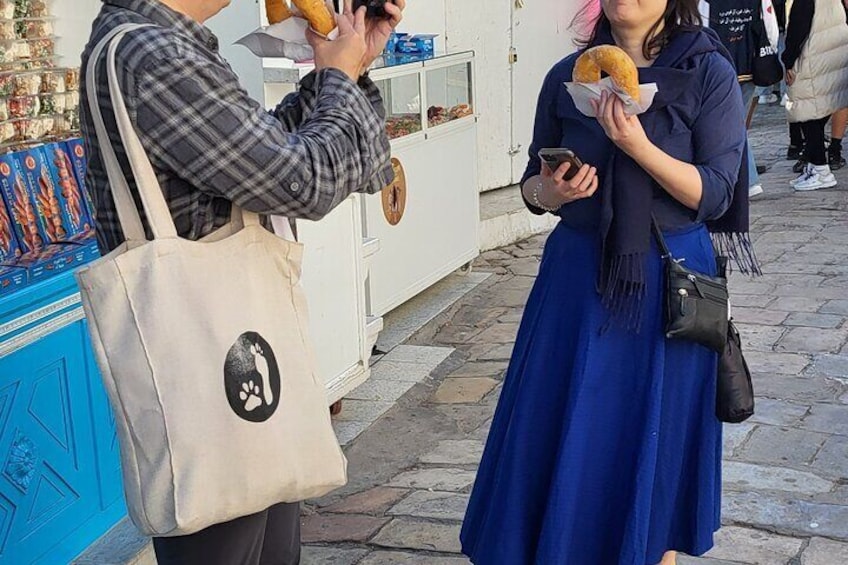
<svg viewBox="0 0 848 565">
<path fill-rule="evenodd" d="M 278 504 L 188 536 L 154 538 L 153 549 L 159 565 L 298 565 L 300 504 Z"/>
</svg>

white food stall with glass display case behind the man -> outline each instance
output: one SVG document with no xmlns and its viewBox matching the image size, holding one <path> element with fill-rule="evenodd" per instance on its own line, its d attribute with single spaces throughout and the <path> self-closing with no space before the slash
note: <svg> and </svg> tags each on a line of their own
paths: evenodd
<svg viewBox="0 0 848 565">
<path fill-rule="evenodd" d="M 264 21 L 262 3 L 233 3 L 209 27 L 248 92 L 270 108 L 310 68 L 257 58 L 234 44 Z M 371 76 L 385 97 L 392 153 L 406 183 L 383 195 L 353 195 L 320 222 L 298 222 L 331 403 L 368 378 L 382 316 L 478 254 L 473 62 L 472 53 L 381 61 Z"/>
</svg>

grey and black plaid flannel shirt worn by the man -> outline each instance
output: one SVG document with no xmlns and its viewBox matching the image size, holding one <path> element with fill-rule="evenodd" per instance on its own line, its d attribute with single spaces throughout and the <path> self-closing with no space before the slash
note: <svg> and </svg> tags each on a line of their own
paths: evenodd
<svg viewBox="0 0 848 565">
<path fill-rule="evenodd" d="M 355 84 L 334 69 L 312 73 L 268 112 L 239 85 L 207 28 L 159 0 L 103 2 L 83 53 L 81 97 L 87 180 L 102 249 L 114 249 L 124 237 L 87 108 L 85 70 L 94 46 L 124 23 L 155 26 L 123 39 L 118 74 L 181 236 L 199 239 L 226 224 L 231 203 L 315 220 L 349 194 L 374 193 L 391 182 L 385 109 L 369 79 Z M 111 109 L 105 53 L 97 66 L 97 99 L 132 179 Z M 133 182 L 130 188 L 146 226 Z"/>
</svg>

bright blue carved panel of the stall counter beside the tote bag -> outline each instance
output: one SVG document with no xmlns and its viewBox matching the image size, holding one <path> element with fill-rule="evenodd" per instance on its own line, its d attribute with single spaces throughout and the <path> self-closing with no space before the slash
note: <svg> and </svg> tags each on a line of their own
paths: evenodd
<svg viewBox="0 0 848 565">
<path fill-rule="evenodd" d="M 79 321 L 0 358 L 2 563 L 67 562 L 119 498 L 113 427 L 87 344 Z"/>
</svg>

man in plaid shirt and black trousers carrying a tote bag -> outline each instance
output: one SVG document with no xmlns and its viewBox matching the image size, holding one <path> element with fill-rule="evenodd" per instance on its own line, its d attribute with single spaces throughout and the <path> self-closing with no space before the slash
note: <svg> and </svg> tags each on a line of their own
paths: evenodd
<svg viewBox="0 0 848 565">
<path fill-rule="evenodd" d="M 229 3 L 103 0 L 83 53 L 85 72 L 92 49 L 110 30 L 125 23 L 151 25 L 121 42 L 118 72 L 179 234 L 188 239 L 209 234 L 229 221 L 232 203 L 260 214 L 315 220 L 353 192 L 386 186 L 393 172 L 385 109 L 365 71 L 400 23 L 405 0 L 386 6 L 389 19 L 367 21 L 365 9 L 354 15 L 347 0 L 338 18 L 339 38 L 310 35 L 316 71 L 271 112 L 239 85 L 218 53 L 218 40 L 203 25 Z M 105 53 L 97 68 L 97 100 L 143 216 L 112 112 Z M 81 120 L 97 235 L 109 251 L 124 237 L 86 104 Z M 299 505 L 277 505 L 190 536 L 155 539 L 154 548 L 160 565 L 294 565 L 300 560 Z"/>
</svg>

